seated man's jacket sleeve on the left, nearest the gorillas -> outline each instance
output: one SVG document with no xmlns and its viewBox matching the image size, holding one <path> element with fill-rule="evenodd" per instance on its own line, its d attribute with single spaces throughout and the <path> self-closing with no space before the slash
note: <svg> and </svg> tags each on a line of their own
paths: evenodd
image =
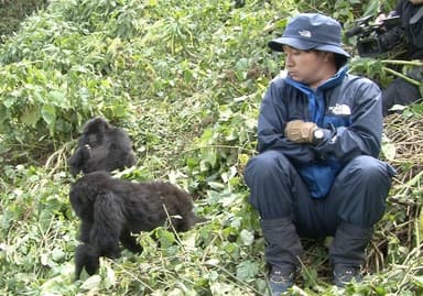
<svg viewBox="0 0 423 296">
<path fill-rule="evenodd" d="M 273 80 L 261 102 L 258 141 L 259 152 L 276 150 L 293 162 L 304 164 L 315 160 L 315 154 L 310 145 L 296 144 L 285 139 L 284 128 L 288 120 L 288 110 L 284 107 L 283 88 L 286 87 L 283 79 Z"/>
</svg>

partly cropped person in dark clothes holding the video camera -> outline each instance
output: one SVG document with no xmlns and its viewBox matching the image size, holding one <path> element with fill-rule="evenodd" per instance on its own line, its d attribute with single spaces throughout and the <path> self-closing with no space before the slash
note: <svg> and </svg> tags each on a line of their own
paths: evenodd
<svg viewBox="0 0 423 296">
<path fill-rule="evenodd" d="M 401 28 L 388 31 L 387 37 L 391 42 L 397 43 L 395 40 L 401 39 L 399 30 L 403 30 L 408 40 L 408 59 L 423 61 L 423 0 L 400 0 L 397 3 L 395 10 L 390 12 L 390 17 L 401 17 Z M 382 22 L 386 19 L 384 14 L 378 17 L 377 21 Z M 383 35 L 382 35 L 383 36 Z M 422 83 L 423 81 L 423 67 L 415 67 L 406 74 L 410 78 Z M 422 98 L 422 94 L 416 85 L 413 85 L 403 78 L 397 78 L 391 85 L 383 90 L 382 94 L 382 108 L 383 116 L 389 113 L 389 109 L 393 105 L 410 105 Z"/>
</svg>

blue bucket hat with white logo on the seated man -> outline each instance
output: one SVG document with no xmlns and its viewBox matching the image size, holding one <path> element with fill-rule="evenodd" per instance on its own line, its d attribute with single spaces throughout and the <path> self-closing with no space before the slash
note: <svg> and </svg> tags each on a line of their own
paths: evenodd
<svg viewBox="0 0 423 296">
<path fill-rule="evenodd" d="M 340 46 L 340 24 L 319 13 L 300 13 L 288 23 L 282 37 L 269 42 L 269 47 L 276 52 L 283 52 L 282 45 L 308 51 L 316 50 L 332 52 L 349 57 L 349 54 Z"/>
</svg>

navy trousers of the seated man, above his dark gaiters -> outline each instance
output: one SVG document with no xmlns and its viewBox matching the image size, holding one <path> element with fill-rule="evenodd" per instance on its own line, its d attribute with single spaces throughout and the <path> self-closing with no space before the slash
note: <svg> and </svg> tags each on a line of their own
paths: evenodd
<svg viewBox="0 0 423 296">
<path fill-rule="evenodd" d="M 395 171 L 371 156 L 357 156 L 337 175 L 329 193 L 312 198 L 291 162 L 278 151 L 252 157 L 245 169 L 250 202 L 261 219 L 293 218 L 300 237 L 334 235 L 341 222 L 370 228 L 381 219 Z"/>
</svg>

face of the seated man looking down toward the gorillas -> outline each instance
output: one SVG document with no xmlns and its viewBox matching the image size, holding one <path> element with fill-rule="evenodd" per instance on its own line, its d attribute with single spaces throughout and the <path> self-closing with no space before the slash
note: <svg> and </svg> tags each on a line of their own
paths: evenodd
<svg viewBox="0 0 423 296">
<path fill-rule="evenodd" d="M 285 69 L 291 78 L 316 88 L 335 73 L 328 72 L 327 53 L 300 51 L 284 45 Z"/>
</svg>

